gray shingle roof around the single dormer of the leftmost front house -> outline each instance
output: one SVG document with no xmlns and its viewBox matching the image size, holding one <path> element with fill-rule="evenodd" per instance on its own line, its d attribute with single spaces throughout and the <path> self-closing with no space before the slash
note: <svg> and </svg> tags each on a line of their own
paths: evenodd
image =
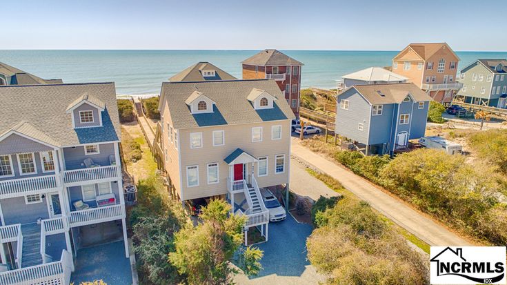
<svg viewBox="0 0 507 285">
<path fill-rule="evenodd" d="M 72 128 L 68 106 L 88 94 L 106 106 L 102 127 Z M 16 130 L 52 145 L 74 146 L 121 137 L 115 83 L 0 86 L 0 135 Z"/>
</svg>

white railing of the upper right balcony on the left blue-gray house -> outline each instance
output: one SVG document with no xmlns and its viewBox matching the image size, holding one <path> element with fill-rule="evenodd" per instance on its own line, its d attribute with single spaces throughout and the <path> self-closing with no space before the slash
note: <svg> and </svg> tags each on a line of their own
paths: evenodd
<svg viewBox="0 0 507 285">
<path fill-rule="evenodd" d="M 83 168 L 76 170 L 63 171 L 63 181 L 66 186 L 69 184 L 79 184 L 85 181 L 110 179 L 119 176 L 118 166 L 99 166 L 92 168 Z"/>
</svg>

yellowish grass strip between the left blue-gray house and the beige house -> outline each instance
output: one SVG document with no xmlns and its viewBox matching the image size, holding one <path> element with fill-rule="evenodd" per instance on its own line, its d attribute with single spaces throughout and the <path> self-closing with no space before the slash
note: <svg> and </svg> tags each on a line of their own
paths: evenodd
<svg viewBox="0 0 507 285">
<path fill-rule="evenodd" d="M 136 162 L 126 159 L 128 173 L 133 175 L 136 180 L 148 178 L 157 170 L 157 162 L 153 159 L 153 155 L 144 138 L 141 127 L 137 124 L 137 121 L 129 124 L 122 124 L 121 132 L 123 134 L 121 144 L 124 151 L 126 151 L 126 145 L 129 144 L 128 140 L 130 139 L 141 146 L 141 159 Z M 128 157 L 127 153 L 126 157 Z"/>
</svg>

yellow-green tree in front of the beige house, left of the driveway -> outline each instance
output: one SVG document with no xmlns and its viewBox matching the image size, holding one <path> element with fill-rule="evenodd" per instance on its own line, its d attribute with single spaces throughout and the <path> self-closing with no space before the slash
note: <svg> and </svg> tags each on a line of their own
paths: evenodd
<svg viewBox="0 0 507 285">
<path fill-rule="evenodd" d="M 179 274 L 187 276 L 188 284 L 232 284 L 238 272 L 229 261 L 243 241 L 246 217 L 229 212 L 229 204 L 213 200 L 203 208 L 201 224 L 175 234 L 175 252 L 169 253 L 169 261 Z M 261 250 L 246 248 L 240 250 L 236 261 L 246 275 L 256 275 L 261 257 Z"/>
</svg>

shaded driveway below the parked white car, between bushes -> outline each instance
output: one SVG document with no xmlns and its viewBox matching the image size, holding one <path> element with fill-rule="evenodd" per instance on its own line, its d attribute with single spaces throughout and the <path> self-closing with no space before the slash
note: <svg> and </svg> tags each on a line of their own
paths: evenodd
<svg viewBox="0 0 507 285">
<path fill-rule="evenodd" d="M 264 250 L 261 264 L 264 270 L 256 277 L 238 275 L 237 284 L 318 284 L 324 280 L 315 267 L 306 260 L 306 238 L 312 233 L 312 226 L 299 224 L 292 216 L 282 222 L 269 224 L 269 240 L 259 244 Z"/>
</svg>

